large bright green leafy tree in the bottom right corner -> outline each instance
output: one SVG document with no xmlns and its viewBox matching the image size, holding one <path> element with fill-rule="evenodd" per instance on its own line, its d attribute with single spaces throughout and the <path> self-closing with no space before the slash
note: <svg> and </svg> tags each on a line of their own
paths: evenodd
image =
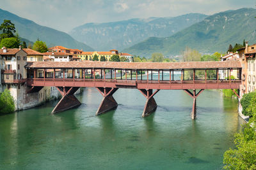
<svg viewBox="0 0 256 170">
<path fill-rule="evenodd" d="M 254 103 L 255 104 L 255 103 Z M 224 153 L 224 169 L 256 169 L 256 115 L 236 134 L 236 149 Z"/>
</svg>

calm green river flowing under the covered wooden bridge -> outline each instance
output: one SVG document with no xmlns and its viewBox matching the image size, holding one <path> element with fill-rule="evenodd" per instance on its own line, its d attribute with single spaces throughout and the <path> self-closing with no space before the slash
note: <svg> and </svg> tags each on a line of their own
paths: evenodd
<svg viewBox="0 0 256 170">
<path fill-rule="evenodd" d="M 141 118 L 145 97 L 118 89 L 118 108 L 100 116 L 96 89 L 77 96 L 79 108 L 51 115 L 58 101 L 0 116 L 0 169 L 221 169 L 243 120 L 237 100 L 218 90 L 192 99 L 160 90 L 155 113 Z"/>
</svg>

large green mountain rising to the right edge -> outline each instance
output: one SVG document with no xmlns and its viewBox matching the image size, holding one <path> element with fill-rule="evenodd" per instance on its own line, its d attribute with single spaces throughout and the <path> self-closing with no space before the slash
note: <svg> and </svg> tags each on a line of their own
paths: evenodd
<svg viewBox="0 0 256 170">
<path fill-rule="evenodd" d="M 256 42 L 256 10 L 241 8 L 211 15 L 202 22 L 166 38 L 151 37 L 124 51 L 140 56 L 154 52 L 179 55 L 186 46 L 201 53 L 227 52 L 228 45 L 243 44 L 243 40 Z"/>
</svg>

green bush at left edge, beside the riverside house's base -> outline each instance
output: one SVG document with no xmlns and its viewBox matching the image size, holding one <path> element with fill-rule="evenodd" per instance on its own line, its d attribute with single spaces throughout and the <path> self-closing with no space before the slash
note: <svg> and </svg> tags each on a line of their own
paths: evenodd
<svg viewBox="0 0 256 170">
<path fill-rule="evenodd" d="M 10 90 L 5 89 L 0 93 L 0 113 L 12 113 L 15 110 L 14 100 Z"/>
</svg>

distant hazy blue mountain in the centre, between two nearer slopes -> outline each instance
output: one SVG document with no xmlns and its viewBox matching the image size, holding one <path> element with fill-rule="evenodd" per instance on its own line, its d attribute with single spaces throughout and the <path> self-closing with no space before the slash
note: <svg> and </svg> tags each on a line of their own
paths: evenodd
<svg viewBox="0 0 256 170">
<path fill-rule="evenodd" d="M 89 23 L 72 29 L 71 36 L 97 50 L 122 50 L 150 36 L 166 37 L 202 21 L 206 15 L 190 13 L 179 17 L 131 19 L 119 22 Z"/>
</svg>

